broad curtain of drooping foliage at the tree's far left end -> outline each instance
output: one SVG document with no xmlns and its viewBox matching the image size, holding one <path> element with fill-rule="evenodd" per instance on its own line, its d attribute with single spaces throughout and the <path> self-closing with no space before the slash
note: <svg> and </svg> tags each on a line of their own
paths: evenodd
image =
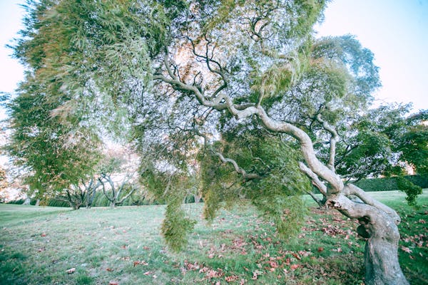
<svg viewBox="0 0 428 285">
<path fill-rule="evenodd" d="M 99 135 L 128 128 L 126 103 L 148 83 L 169 20 L 153 1 L 29 0 L 26 11 L 12 48 L 28 72 L 9 104 L 8 150 L 31 189 L 61 191 L 91 175 Z"/>
</svg>

